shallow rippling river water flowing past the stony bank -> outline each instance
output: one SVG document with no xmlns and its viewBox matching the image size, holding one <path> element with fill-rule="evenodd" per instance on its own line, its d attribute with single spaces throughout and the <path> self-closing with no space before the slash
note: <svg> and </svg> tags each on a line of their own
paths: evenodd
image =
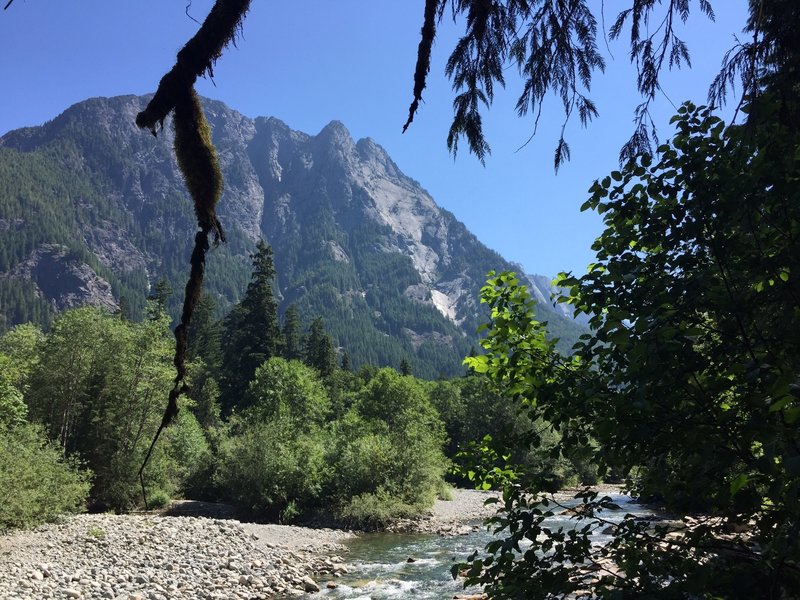
<svg viewBox="0 0 800 600">
<path fill-rule="evenodd" d="M 626 514 L 652 514 L 651 510 L 635 504 L 627 496 L 611 494 L 611 497 L 622 510 L 604 513 L 603 517 L 610 521 L 618 522 Z M 577 504 L 578 501 L 566 503 L 567 506 Z M 569 529 L 577 522 L 568 515 L 556 515 L 547 523 L 553 528 Z M 466 560 L 474 550 L 482 550 L 492 539 L 485 527 L 455 537 L 391 533 L 360 535 L 346 543 L 350 551 L 344 557 L 350 572 L 335 580 L 336 588 L 323 587 L 313 598 L 445 600 L 457 594 L 477 594 L 479 589 L 465 590 L 461 580 L 454 581 L 450 567 L 454 562 Z M 608 536 L 595 535 L 598 543 L 607 540 Z M 325 582 L 320 581 L 320 584 L 324 586 Z"/>
</svg>

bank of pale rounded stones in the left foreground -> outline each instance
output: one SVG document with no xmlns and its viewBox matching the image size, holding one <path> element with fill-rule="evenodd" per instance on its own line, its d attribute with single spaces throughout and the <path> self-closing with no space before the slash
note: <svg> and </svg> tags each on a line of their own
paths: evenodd
<svg viewBox="0 0 800 600">
<path fill-rule="evenodd" d="M 290 549 L 205 517 L 84 514 L 4 542 L 3 600 L 271 598 L 319 592 L 315 577 L 347 572 L 337 544 Z"/>
</svg>

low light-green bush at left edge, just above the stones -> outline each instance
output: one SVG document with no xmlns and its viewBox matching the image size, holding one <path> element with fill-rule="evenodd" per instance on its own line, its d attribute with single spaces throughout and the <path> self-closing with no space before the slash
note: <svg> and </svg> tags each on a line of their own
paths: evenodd
<svg viewBox="0 0 800 600">
<path fill-rule="evenodd" d="M 0 528 L 32 527 L 83 509 L 90 479 L 40 427 L 0 425 Z"/>
</svg>

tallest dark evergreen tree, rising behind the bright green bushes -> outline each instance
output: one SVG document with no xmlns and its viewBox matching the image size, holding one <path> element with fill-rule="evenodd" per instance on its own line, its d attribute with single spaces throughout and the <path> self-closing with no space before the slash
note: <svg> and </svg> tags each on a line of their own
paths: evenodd
<svg viewBox="0 0 800 600">
<path fill-rule="evenodd" d="M 272 290 L 275 267 L 272 248 L 258 242 L 251 254 L 253 272 L 244 298 L 224 323 L 222 405 L 224 410 L 241 406 L 256 368 L 276 356 L 282 347 L 278 303 Z"/>
</svg>

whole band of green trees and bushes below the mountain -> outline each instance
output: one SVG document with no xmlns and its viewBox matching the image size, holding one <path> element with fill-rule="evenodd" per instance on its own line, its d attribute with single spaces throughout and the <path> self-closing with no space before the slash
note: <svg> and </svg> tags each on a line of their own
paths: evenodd
<svg viewBox="0 0 800 600">
<path fill-rule="evenodd" d="M 173 386 L 169 286 L 155 286 L 139 322 L 87 306 L 58 315 L 49 331 L 26 324 L 0 338 L 3 477 L 19 482 L 3 489 L 23 488 L 6 498 L 0 526 L 82 504 L 129 511 L 191 497 L 274 521 L 375 528 L 429 508 L 447 494 L 446 478 L 472 484 L 446 477 L 452 460 L 472 440 L 514 429 L 510 400 L 483 377 L 425 381 L 407 362 L 405 374 L 352 372 L 320 319 L 294 307 L 279 317 L 268 246 L 252 266 L 225 319 L 214 318 L 211 297 L 198 305 L 190 391 L 143 486 L 138 471 Z M 561 483 L 584 475 L 579 463 L 529 447 L 513 454 L 545 461 Z"/>
</svg>

